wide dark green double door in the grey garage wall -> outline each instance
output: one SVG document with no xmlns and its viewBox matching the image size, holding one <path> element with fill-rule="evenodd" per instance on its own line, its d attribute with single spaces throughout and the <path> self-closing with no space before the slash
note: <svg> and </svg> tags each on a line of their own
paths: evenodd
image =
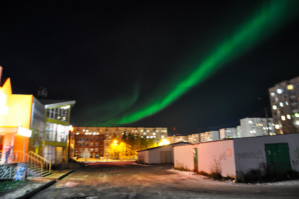
<svg viewBox="0 0 299 199">
<path fill-rule="evenodd" d="M 271 173 L 283 174 L 291 171 L 288 143 L 265 144 L 267 167 Z"/>
</svg>

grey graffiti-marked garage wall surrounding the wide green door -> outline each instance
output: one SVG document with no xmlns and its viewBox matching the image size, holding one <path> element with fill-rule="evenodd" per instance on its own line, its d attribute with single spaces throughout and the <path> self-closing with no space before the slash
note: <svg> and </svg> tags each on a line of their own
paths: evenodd
<svg viewBox="0 0 299 199">
<path fill-rule="evenodd" d="M 299 134 L 294 133 L 234 139 L 237 172 L 246 173 L 267 163 L 265 144 L 274 143 L 288 143 L 292 169 L 299 171 Z"/>
</svg>

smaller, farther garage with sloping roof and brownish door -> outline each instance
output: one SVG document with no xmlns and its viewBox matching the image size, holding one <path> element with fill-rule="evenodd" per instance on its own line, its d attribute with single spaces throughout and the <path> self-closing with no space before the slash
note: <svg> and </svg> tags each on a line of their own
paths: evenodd
<svg viewBox="0 0 299 199">
<path fill-rule="evenodd" d="M 167 144 L 163 146 L 157 146 L 149 149 L 143 149 L 137 151 L 139 163 L 144 164 L 161 164 L 161 163 L 173 163 L 173 146 L 182 144 L 190 144 L 188 142 L 177 142 L 173 144 Z"/>
</svg>

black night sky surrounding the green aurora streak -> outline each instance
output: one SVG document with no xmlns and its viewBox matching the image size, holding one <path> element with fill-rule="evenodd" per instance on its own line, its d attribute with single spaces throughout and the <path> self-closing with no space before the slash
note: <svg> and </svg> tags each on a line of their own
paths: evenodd
<svg viewBox="0 0 299 199">
<path fill-rule="evenodd" d="M 277 2 L 8 2 L 0 6 L 3 77 L 14 94 L 36 96 L 44 86 L 48 99 L 76 100 L 73 126 L 167 127 L 169 135 L 195 133 L 194 121 L 202 131 L 236 127 L 241 118 L 264 117 L 268 88 L 299 75 L 296 1 L 288 1 L 291 17 L 270 13 L 255 42 L 182 88 L 167 107 L 119 121 L 162 102 L 261 7 Z"/>
</svg>

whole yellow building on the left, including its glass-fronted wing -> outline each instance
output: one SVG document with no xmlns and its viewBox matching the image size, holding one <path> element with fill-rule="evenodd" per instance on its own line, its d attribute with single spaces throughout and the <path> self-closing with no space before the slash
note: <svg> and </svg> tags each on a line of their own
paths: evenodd
<svg viewBox="0 0 299 199">
<path fill-rule="evenodd" d="M 33 151 L 52 163 L 67 160 L 70 111 L 75 103 L 12 94 L 10 78 L 5 79 L 0 84 L 0 151 L 10 145 L 12 151 Z"/>
</svg>

